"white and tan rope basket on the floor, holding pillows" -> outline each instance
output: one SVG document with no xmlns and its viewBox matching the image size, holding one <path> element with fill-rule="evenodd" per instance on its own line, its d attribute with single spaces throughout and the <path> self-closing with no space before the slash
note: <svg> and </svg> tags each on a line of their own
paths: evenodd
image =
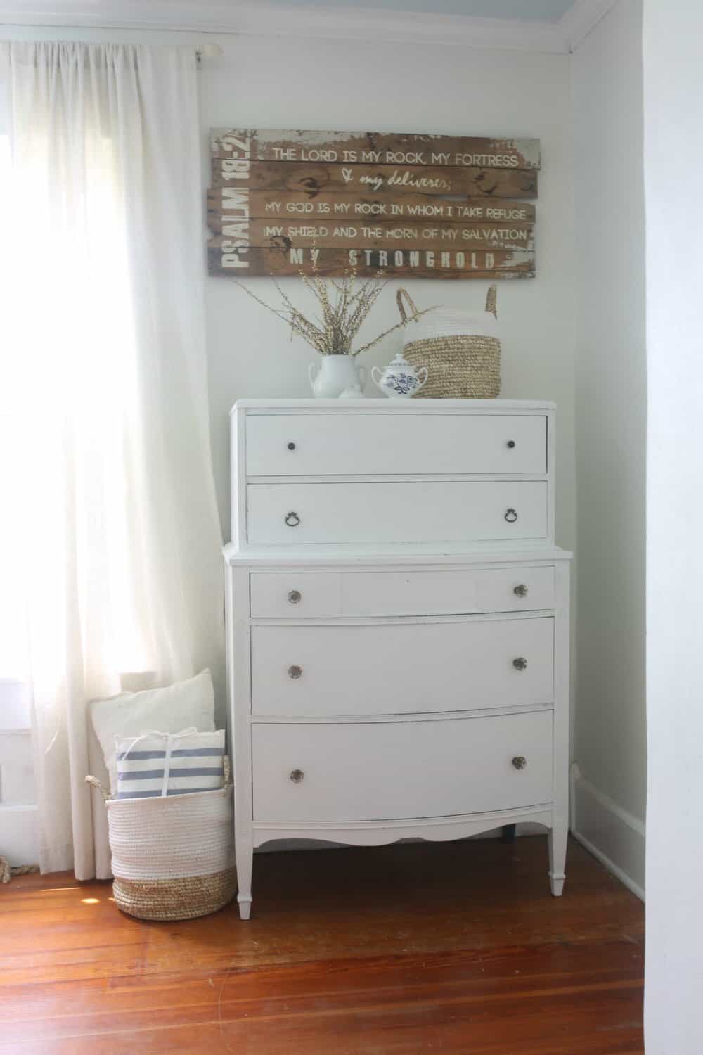
<svg viewBox="0 0 703 1055">
<path fill-rule="evenodd" d="M 188 920 L 232 900 L 233 797 L 229 760 L 224 787 L 154 799 L 111 799 L 108 809 L 113 895 L 122 912 L 142 920 Z"/>
</svg>

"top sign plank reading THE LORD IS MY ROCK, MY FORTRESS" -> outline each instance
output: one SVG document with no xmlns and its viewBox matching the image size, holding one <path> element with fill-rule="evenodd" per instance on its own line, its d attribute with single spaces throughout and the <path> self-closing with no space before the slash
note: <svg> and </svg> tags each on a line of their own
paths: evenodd
<svg viewBox="0 0 703 1055">
<path fill-rule="evenodd" d="M 405 132 L 314 132 L 213 129 L 213 157 L 340 165 L 430 165 L 539 169 L 539 139 Z"/>
</svg>

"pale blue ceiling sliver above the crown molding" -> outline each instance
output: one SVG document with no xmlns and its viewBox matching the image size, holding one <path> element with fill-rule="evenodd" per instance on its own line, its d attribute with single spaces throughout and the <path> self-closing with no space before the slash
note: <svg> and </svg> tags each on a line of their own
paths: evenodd
<svg viewBox="0 0 703 1055">
<path fill-rule="evenodd" d="M 526 22 L 558 22 L 575 0 L 273 0 L 284 7 L 324 6 L 405 11 L 465 18 L 510 18 Z"/>
</svg>

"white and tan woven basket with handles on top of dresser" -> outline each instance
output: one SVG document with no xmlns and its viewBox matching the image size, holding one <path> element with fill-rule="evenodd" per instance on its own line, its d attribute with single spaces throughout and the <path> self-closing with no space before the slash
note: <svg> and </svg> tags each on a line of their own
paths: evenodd
<svg viewBox="0 0 703 1055">
<path fill-rule="evenodd" d="M 501 342 L 497 337 L 495 286 L 486 295 L 486 310 L 444 309 L 415 320 L 405 329 L 403 354 L 415 368 L 427 367 L 427 383 L 414 399 L 496 399 L 501 392 Z M 403 298 L 413 311 L 406 289 L 398 289 L 401 318 L 408 319 Z"/>
</svg>

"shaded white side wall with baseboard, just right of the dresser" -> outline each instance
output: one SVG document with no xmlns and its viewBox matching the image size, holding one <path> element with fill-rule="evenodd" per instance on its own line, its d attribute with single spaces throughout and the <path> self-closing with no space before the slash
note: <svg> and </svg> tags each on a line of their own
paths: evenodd
<svg viewBox="0 0 703 1055">
<path fill-rule="evenodd" d="M 644 887 L 646 364 L 642 0 L 573 56 L 580 837 Z"/>
</svg>

